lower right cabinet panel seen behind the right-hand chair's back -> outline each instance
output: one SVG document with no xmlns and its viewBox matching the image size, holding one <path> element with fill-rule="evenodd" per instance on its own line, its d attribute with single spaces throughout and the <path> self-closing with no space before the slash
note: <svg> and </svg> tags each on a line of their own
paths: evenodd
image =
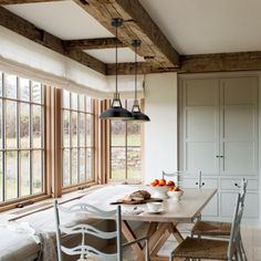
<svg viewBox="0 0 261 261">
<path fill-rule="evenodd" d="M 233 217 L 233 209 L 236 203 L 236 192 L 220 192 L 220 215 L 225 218 Z M 259 195 L 248 192 L 244 201 L 244 218 L 259 217 Z"/>
</svg>

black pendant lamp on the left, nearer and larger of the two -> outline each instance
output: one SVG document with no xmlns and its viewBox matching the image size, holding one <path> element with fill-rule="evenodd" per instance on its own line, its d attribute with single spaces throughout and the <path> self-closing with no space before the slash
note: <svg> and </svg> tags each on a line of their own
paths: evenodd
<svg viewBox="0 0 261 261">
<path fill-rule="evenodd" d="M 121 18 L 113 18 L 112 19 L 112 25 L 116 28 L 116 39 L 118 33 L 118 28 L 123 25 L 123 19 Z M 128 112 L 127 109 L 123 108 L 122 102 L 119 98 L 118 93 L 118 75 L 117 75 L 117 62 L 118 62 L 118 52 L 117 52 L 117 41 L 116 41 L 116 85 L 115 85 L 115 93 L 113 97 L 113 102 L 111 104 L 111 108 L 104 111 L 101 115 L 101 119 L 130 119 L 133 118 L 133 114 Z"/>
</svg>

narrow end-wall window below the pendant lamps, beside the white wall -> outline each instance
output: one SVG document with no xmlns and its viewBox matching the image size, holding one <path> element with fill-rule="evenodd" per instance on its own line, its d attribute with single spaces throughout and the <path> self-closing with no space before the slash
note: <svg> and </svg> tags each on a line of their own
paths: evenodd
<svg viewBox="0 0 261 261">
<path fill-rule="evenodd" d="M 123 102 L 129 111 L 133 101 Z M 111 179 L 139 180 L 142 177 L 142 125 L 111 121 Z"/>
</svg>

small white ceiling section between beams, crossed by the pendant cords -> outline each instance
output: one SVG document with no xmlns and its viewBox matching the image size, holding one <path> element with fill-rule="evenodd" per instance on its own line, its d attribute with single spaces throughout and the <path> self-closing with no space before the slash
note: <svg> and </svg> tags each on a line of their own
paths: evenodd
<svg viewBox="0 0 261 261">
<path fill-rule="evenodd" d="M 98 59 L 105 63 L 115 63 L 115 49 L 98 49 L 98 50 L 87 50 L 84 51 L 90 55 Z M 119 48 L 118 49 L 118 62 L 134 62 L 135 53 L 129 48 Z M 138 62 L 144 62 L 145 60 L 142 56 L 137 56 Z"/>
</svg>

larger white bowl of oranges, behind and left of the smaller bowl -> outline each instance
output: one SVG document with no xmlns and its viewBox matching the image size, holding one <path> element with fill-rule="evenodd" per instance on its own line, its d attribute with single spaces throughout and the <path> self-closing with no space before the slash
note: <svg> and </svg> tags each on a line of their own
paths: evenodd
<svg viewBox="0 0 261 261">
<path fill-rule="evenodd" d="M 168 198 L 167 191 L 169 188 L 175 187 L 175 182 L 173 180 L 167 181 L 166 179 L 154 179 L 153 182 L 149 185 L 153 197 L 154 198 L 161 198 L 166 199 Z"/>
</svg>

